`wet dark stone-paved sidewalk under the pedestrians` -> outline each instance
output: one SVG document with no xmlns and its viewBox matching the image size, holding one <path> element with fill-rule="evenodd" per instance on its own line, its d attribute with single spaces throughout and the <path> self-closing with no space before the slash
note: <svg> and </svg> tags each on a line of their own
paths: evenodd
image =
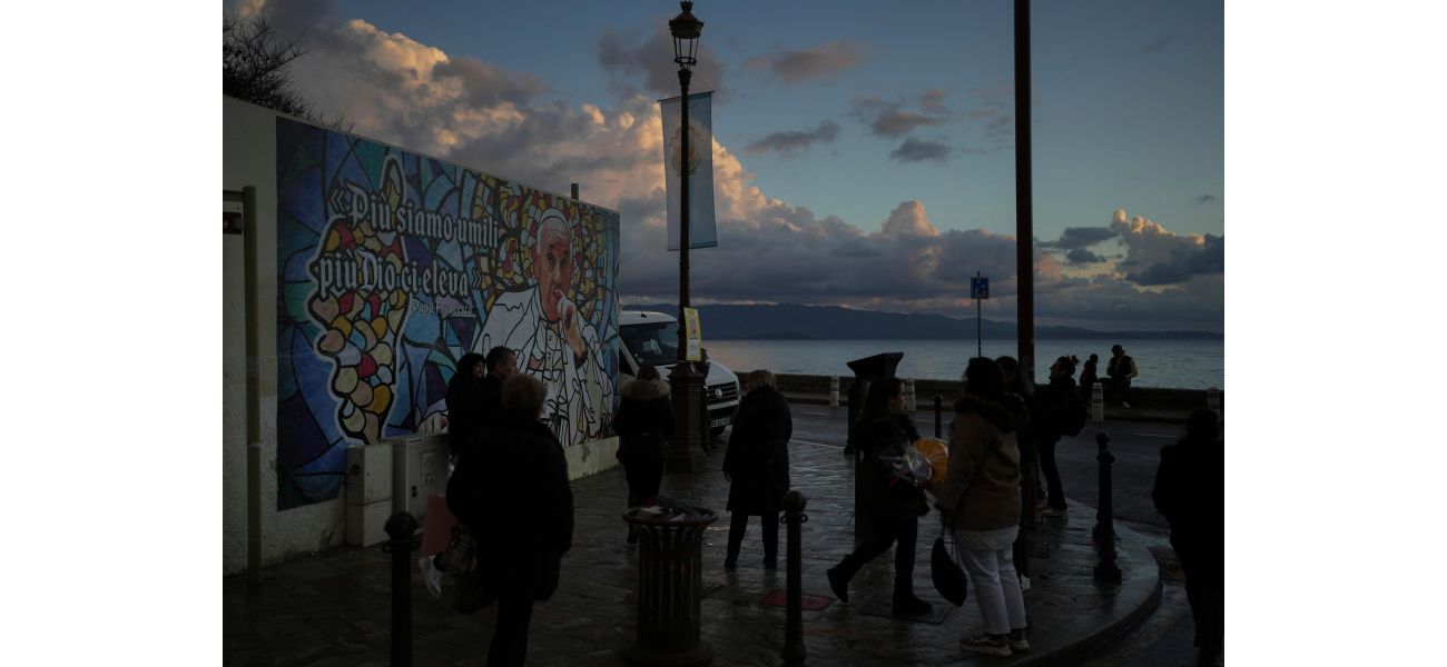
<svg viewBox="0 0 1447 667">
<path fill-rule="evenodd" d="M 663 494 L 719 513 L 705 536 L 702 635 L 716 666 L 780 666 L 784 608 L 760 603 L 784 590 L 783 569 L 765 570 L 757 518 L 750 524 L 737 572 L 724 572 L 728 485 L 718 471 L 664 476 Z M 1072 502 L 1068 518 L 1049 518 L 1032 536 L 1045 546 L 1032 557 L 1032 588 L 1024 593 L 1032 651 L 1013 658 L 971 657 L 958 640 L 980 628 L 971 599 L 949 606 L 929 583 L 929 546 L 936 515 L 920 520 L 916 592 L 948 608 L 941 624 L 881 618 L 864 611 L 888 601 L 893 556 L 884 554 L 855 576 L 849 603 L 829 590 L 825 570 L 854 547 L 852 471 L 835 446 L 790 445 L 793 485 L 809 498 L 802 528 L 803 592 L 828 599 L 803 612 L 807 663 L 813 666 L 1069 664 L 1085 651 L 1129 631 L 1160 596 L 1160 577 L 1146 541 L 1117 528 L 1124 580 L 1092 580 L 1095 550 L 1090 530 L 1094 510 Z M 625 544 L 621 518 L 627 484 L 621 469 L 573 482 L 576 533 L 563 560 L 561 585 L 550 602 L 534 608 L 528 664 L 616 666 L 634 638 L 637 552 Z M 780 527 L 780 549 L 784 549 Z M 784 554 L 780 553 L 780 564 Z M 1042 557 L 1043 556 L 1043 557 Z M 412 664 L 480 666 L 486 661 L 495 606 L 456 614 L 434 601 L 411 572 Z M 385 666 L 391 641 L 391 562 L 381 546 L 341 547 L 263 572 L 249 590 L 243 576 L 226 577 L 224 664 L 229 666 Z"/>
</svg>

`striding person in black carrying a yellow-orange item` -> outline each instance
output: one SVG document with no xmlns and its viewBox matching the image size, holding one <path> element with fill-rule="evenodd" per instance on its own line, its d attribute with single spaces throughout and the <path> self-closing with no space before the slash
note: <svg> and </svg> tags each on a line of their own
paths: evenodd
<svg viewBox="0 0 1447 667">
<path fill-rule="evenodd" d="M 894 547 L 894 614 L 929 614 L 929 602 L 915 595 L 915 540 L 919 534 L 919 517 L 929 511 L 929 504 L 919 487 L 896 476 L 891 465 L 884 461 L 903 459 L 904 448 L 919 439 L 915 423 L 904 411 L 903 380 L 887 377 L 870 384 L 858 430 L 864 448 L 860 474 L 865 475 L 860 487 L 860 502 L 871 515 L 874 536 L 826 572 L 829 588 L 841 601 L 848 602 L 849 580 L 860 567 L 899 541 Z"/>
</svg>

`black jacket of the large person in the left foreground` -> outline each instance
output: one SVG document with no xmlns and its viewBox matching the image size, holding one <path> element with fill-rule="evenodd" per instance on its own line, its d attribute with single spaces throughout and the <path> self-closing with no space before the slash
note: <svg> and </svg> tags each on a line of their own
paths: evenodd
<svg viewBox="0 0 1447 667">
<path fill-rule="evenodd" d="M 459 459 L 447 508 L 472 528 L 492 585 L 522 586 L 534 599 L 548 599 L 573 546 L 563 445 L 544 423 L 512 414 L 478 437 L 488 446 Z"/>
</svg>

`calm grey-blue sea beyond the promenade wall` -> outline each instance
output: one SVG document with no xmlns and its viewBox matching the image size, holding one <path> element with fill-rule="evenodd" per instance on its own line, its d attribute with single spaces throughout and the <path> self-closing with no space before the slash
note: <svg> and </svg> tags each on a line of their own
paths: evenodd
<svg viewBox="0 0 1447 667">
<path fill-rule="evenodd" d="M 1136 359 L 1136 387 L 1226 390 L 1226 341 L 1189 339 L 1037 339 L 1035 341 L 1036 383 L 1046 383 L 1056 357 L 1079 357 L 1075 378 L 1091 354 L 1100 355 L 1097 374 L 1106 375 L 1110 346 L 1120 344 Z M 984 354 L 1019 357 L 1014 339 L 975 341 L 703 341 L 709 358 L 735 372 L 767 368 L 802 375 L 851 377 L 846 362 L 880 352 L 904 352 L 896 377 L 913 380 L 959 380 L 965 362 Z"/>
</svg>

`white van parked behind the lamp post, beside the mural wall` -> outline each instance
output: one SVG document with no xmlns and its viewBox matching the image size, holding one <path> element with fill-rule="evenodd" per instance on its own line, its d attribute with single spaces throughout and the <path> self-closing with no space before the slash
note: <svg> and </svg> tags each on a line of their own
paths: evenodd
<svg viewBox="0 0 1447 667">
<path fill-rule="evenodd" d="M 669 370 L 679 361 L 679 321 L 673 315 L 624 310 L 618 321 L 618 341 L 619 385 L 632 380 L 642 364 L 653 364 L 669 380 Z M 710 358 L 709 377 L 703 378 L 703 401 L 709 407 L 709 433 L 713 436 L 734 423 L 738 394 L 738 375 Z"/>
</svg>

